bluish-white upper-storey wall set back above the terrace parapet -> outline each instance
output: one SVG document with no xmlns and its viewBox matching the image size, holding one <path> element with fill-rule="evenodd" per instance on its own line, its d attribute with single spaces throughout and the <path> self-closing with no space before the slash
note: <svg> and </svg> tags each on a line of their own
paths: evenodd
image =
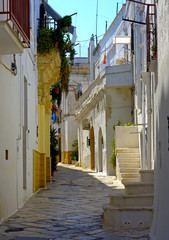
<svg viewBox="0 0 169 240">
<path fill-rule="evenodd" d="M 113 43 L 114 38 L 117 36 L 130 36 L 130 24 L 122 21 L 124 16 L 125 5 L 122 6 L 120 12 L 94 50 L 95 79 L 105 67 L 116 65 L 117 59 L 124 59 L 125 64 L 127 63 L 127 60 L 129 62 L 131 61 L 130 54 L 128 54 L 128 48 L 130 48 L 129 45 Z M 106 64 L 103 64 L 104 55 L 106 56 Z"/>
</svg>

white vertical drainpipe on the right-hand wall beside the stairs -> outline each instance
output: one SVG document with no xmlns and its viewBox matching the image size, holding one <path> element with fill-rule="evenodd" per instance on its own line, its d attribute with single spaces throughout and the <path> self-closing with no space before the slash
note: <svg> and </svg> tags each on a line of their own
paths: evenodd
<svg viewBox="0 0 169 240">
<path fill-rule="evenodd" d="M 147 164 L 146 169 L 151 169 L 151 72 L 142 72 L 142 79 L 147 86 Z"/>
</svg>

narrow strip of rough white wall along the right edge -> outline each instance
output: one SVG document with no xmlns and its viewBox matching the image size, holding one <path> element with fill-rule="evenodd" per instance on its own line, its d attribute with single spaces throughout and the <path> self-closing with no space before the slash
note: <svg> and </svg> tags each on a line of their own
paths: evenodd
<svg viewBox="0 0 169 240">
<path fill-rule="evenodd" d="M 156 157 L 155 203 L 152 239 L 167 240 L 169 236 L 169 3 L 157 3 L 158 83 L 155 92 Z"/>
</svg>

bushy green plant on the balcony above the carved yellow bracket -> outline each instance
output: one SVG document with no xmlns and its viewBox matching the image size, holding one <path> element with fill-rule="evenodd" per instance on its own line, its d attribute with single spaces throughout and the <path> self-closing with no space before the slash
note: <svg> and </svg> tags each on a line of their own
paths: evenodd
<svg viewBox="0 0 169 240">
<path fill-rule="evenodd" d="M 49 28 L 40 28 L 37 38 L 37 50 L 40 54 L 46 55 L 55 48 L 53 41 L 53 30 Z"/>
</svg>

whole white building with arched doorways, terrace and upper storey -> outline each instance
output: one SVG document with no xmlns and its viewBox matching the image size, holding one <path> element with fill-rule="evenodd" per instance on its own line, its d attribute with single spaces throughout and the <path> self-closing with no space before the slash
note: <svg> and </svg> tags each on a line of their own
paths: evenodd
<svg viewBox="0 0 169 240">
<path fill-rule="evenodd" d="M 125 5 L 96 48 L 91 37 L 90 86 L 76 104 L 80 165 L 108 175 L 115 174 L 110 163 L 113 125 L 133 118 L 130 29 L 124 14 Z"/>
</svg>

